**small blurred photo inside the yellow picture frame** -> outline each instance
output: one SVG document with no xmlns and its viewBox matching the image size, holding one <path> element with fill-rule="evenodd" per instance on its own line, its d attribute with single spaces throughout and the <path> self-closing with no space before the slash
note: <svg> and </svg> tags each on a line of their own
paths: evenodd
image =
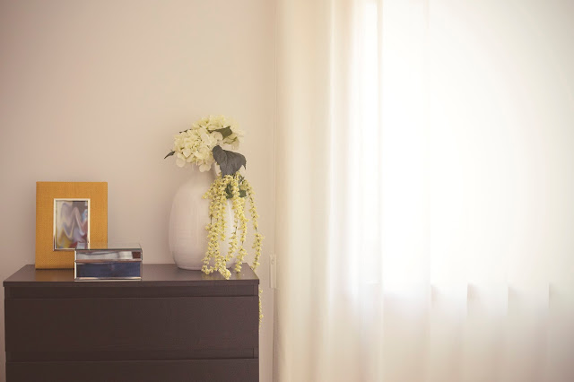
<svg viewBox="0 0 574 382">
<path fill-rule="evenodd" d="M 90 242 L 90 199 L 54 199 L 54 250 Z"/>
</svg>

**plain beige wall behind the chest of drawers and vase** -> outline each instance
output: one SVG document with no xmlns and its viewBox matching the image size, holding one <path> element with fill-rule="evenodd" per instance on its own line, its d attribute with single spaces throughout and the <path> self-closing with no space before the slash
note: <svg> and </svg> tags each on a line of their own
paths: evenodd
<svg viewBox="0 0 574 382">
<path fill-rule="evenodd" d="M 188 172 L 163 156 L 196 118 L 234 117 L 266 237 L 260 357 L 271 380 L 273 108 L 272 1 L 0 0 L 0 279 L 34 262 L 39 180 L 107 181 L 109 239 L 139 241 L 145 263 L 172 262 L 171 197 Z M 4 330 L 0 343 L 2 380 Z"/>
</svg>

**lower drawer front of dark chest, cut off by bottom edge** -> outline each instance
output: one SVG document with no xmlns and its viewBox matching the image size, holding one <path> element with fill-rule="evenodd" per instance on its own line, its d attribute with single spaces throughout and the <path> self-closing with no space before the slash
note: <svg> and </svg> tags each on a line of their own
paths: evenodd
<svg viewBox="0 0 574 382">
<path fill-rule="evenodd" d="M 257 360 L 8 362 L 6 381 L 257 381 Z"/>
</svg>

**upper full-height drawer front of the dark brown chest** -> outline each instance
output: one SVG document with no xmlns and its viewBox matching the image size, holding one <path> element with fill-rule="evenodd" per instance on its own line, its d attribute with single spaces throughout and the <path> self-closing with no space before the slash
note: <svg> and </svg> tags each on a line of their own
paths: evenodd
<svg viewBox="0 0 574 382">
<path fill-rule="evenodd" d="M 258 298 L 6 299 L 6 352 L 258 347 Z"/>
</svg>

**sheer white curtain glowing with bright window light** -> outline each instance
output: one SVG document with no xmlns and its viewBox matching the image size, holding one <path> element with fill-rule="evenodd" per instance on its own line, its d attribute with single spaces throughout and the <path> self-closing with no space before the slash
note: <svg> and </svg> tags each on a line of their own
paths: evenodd
<svg viewBox="0 0 574 382">
<path fill-rule="evenodd" d="M 276 380 L 572 380 L 571 14 L 277 1 Z"/>
</svg>

